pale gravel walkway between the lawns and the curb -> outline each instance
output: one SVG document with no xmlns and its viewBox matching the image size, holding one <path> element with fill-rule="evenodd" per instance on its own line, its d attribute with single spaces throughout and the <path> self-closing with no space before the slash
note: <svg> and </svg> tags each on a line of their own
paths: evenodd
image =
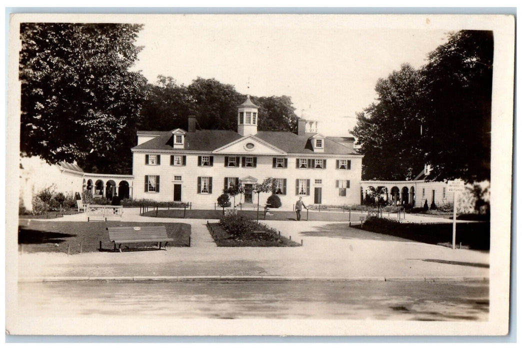
<svg viewBox="0 0 522 350">
<path fill-rule="evenodd" d="M 78 214 L 54 220 L 87 219 Z M 191 247 L 76 255 L 19 254 L 19 277 L 22 280 L 117 276 L 131 280 L 136 276 L 165 276 L 171 280 L 183 276 L 379 280 L 489 277 L 489 252 L 452 250 L 354 229 L 338 221 L 266 221 L 283 236 L 291 236 L 296 242 L 303 240 L 303 247 L 286 248 L 217 247 L 205 227 L 207 220 L 143 217 L 139 216 L 139 208 L 126 208 L 122 221 L 190 224 Z"/>
</svg>

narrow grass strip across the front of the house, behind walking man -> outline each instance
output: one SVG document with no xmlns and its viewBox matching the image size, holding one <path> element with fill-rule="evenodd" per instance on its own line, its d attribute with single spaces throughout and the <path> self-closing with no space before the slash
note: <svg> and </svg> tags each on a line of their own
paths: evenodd
<svg viewBox="0 0 522 350">
<path fill-rule="evenodd" d="M 156 216 L 156 211 L 149 211 L 144 216 L 150 217 L 166 217 L 166 218 L 183 218 L 183 210 L 182 209 L 171 209 L 171 210 L 159 210 Z M 185 212 L 185 218 L 187 219 L 220 219 L 222 216 L 222 210 L 187 210 Z M 295 221 L 295 212 L 291 211 L 271 211 L 268 212 L 271 215 L 266 216 L 266 220 L 289 220 Z M 257 212 L 256 211 L 239 211 L 238 215 L 245 216 L 251 219 L 256 219 Z M 352 211 L 351 219 L 358 220 L 360 216 L 360 212 Z M 350 219 L 350 214 L 348 211 L 345 213 L 341 212 L 318 212 L 318 211 L 310 211 L 308 215 L 306 211 L 303 211 L 301 214 L 301 220 L 306 221 L 308 217 L 309 221 L 348 221 Z M 263 210 L 259 210 L 259 220 L 265 220 L 265 215 Z"/>
</svg>

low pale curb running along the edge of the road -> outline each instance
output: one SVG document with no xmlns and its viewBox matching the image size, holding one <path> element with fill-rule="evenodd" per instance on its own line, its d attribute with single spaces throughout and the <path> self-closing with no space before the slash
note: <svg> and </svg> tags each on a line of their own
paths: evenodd
<svg viewBox="0 0 522 350">
<path fill-rule="evenodd" d="M 395 276 L 395 277 L 325 277 L 325 276 L 48 276 L 22 277 L 19 283 L 128 281 L 128 282 L 182 282 L 182 281 L 293 281 L 293 282 L 489 282 L 489 277 L 473 276 Z"/>
</svg>

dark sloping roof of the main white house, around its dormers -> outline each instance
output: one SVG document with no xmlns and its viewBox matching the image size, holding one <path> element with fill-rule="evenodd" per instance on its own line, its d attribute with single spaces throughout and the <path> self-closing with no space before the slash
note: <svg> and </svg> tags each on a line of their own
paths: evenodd
<svg viewBox="0 0 522 350">
<path fill-rule="evenodd" d="M 156 133 L 159 134 L 158 137 L 134 146 L 132 149 L 174 150 L 172 147 L 172 131 L 160 131 Z M 314 155 L 317 153 L 313 151 L 309 139 L 315 134 L 316 133 L 306 133 L 304 135 L 296 135 L 287 131 L 258 131 L 255 137 L 286 153 Z M 196 130 L 195 132 L 186 133 L 184 148 L 176 150 L 210 152 L 243 137 L 244 136 L 231 130 Z M 322 154 L 358 155 L 359 153 L 351 147 L 341 145 L 326 137 L 324 153 Z"/>
</svg>

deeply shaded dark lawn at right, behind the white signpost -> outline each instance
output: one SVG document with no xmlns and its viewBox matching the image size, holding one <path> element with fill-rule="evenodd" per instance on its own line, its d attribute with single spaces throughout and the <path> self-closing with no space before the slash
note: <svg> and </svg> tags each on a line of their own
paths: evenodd
<svg viewBox="0 0 522 350">
<path fill-rule="evenodd" d="M 376 232 L 378 234 L 390 235 L 410 239 L 413 241 L 440 244 L 452 247 L 453 224 L 419 224 L 399 223 L 388 219 L 371 218 L 362 225 L 354 225 L 354 228 Z M 470 249 L 490 249 L 490 223 L 457 223 L 456 246 L 462 243 Z"/>
</svg>

